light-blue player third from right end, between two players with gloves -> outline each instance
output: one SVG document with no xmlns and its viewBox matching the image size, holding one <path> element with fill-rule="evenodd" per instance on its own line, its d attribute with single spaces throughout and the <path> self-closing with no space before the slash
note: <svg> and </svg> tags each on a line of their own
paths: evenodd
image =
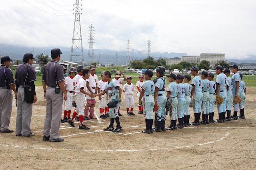
<svg viewBox="0 0 256 170">
<path fill-rule="evenodd" d="M 223 73 L 227 76 L 227 97 L 226 97 L 226 121 L 231 121 L 231 100 L 232 100 L 232 80 L 230 75 L 230 69 L 224 68 Z"/>
</svg>

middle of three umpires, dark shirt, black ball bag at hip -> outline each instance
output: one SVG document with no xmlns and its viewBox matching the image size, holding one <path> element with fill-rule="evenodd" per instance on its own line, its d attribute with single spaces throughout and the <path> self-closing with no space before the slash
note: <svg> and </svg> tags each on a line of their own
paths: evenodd
<svg viewBox="0 0 256 170">
<path fill-rule="evenodd" d="M 17 117 L 16 136 L 31 137 L 30 123 L 32 116 L 32 106 L 36 102 L 36 71 L 31 66 L 34 56 L 27 53 L 23 57 L 23 64 L 19 64 L 16 69 L 15 80 L 17 95 Z"/>
</svg>

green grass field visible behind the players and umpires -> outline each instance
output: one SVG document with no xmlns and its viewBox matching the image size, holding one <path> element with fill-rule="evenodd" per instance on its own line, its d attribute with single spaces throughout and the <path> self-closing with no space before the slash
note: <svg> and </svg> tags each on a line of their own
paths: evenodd
<svg viewBox="0 0 256 170">
<path fill-rule="evenodd" d="M 139 81 L 139 75 L 140 74 L 125 74 L 125 75 L 126 76 L 128 76 L 128 75 L 132 76 L 132 83 L 134 84 L 134 86 L 136 85 L 136 82 Z M 167 85 L 169 85 L 168 78 L 166 76 L 164 76 L 164 77 L 166 79 Z M 232 77 L 232 76 L 230 76 L 230 77 Z M 114 78 L 114 75 L 113 75 L 113 78 Z M 152 80 L 154 80 L 155 78 L 156 78 L 156 76 L 154 74 L 154 76 L 152 77 Z M 193 78 L 193 76 L 192 76 L 192 78 Z M 35 81 L 35 85 L 36 86 L 42 86 L 42 76 L 36 76 L 36 79 L 37 79 L 37 81 Z M 101 78 L 99 77 L 99 80 L 100 79 Z M 214 75 L 214 81 L 215 81 L 215 79 L 216 79 L 216 75 Z M 242 80 L 245 82 L 246 86 L 254 86 L 254 87 L 256 86 L 256 76 L 244 75 Z"/>
</svg>

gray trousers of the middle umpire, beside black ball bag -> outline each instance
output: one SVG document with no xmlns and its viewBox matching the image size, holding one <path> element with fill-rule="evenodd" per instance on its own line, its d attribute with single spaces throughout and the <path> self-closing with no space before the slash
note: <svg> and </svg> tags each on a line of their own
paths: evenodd
<svg viewBox="0 0 256 170">
<path fill-rule="evenodd" d="M 16 134 L 29 135 L 33 104 L 25 102 L 24 88 L 18 89 L 17 105 Z"/>
</svg>

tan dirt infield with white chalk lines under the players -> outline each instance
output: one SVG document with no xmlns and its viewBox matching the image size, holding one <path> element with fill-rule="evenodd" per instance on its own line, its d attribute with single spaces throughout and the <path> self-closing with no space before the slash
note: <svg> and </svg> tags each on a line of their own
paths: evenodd
<svg viewBox="0 0 256 170">
<path fill-rule="evenodd" d="M 109 118 L 85 121 L 90 130 L 78 129 L 78 121 L 75 128 L 61 123 L 60 137 L 65 141 L 59 143 L 42 141 L 46 112 L 42 86 L 36 87 L 36 92 L 38 101 L 31 122 L 36 136 L 0 133 L 0 169 L 256 169 L 256 87 L 247 88 L 246 119 L 143 134 L 145 121 L 138 114 L 137 104 L 136 115 L 128 116 L 122 102 L 122 133 L 102 131 Z M 98 104 L 95 111 L 99 116 Z M 214 113 L 217 119 L 216 108 Z M 15 124 L 13 100 L 10 129 L 15 130 Z M 166 126 L 169 124 L 167 117 Z"/>
</svg>

